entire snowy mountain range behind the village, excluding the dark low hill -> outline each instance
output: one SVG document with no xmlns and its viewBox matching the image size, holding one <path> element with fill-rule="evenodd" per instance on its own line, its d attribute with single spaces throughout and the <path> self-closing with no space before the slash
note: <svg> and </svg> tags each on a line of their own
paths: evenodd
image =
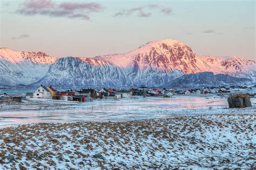
<svg viewBox="0 0 256 170">
<path fill-rule="evenodd" d="M 234 56 L 198 57 L 188 45 L 171 39 L 153 41 L 124 54 L 95 58 L 58 59 L 43 52 L 0 49 L 2 86 L 166 86 L 184 74 L 209 71 L 256 82 L 255 61 Z"/>
</svg>

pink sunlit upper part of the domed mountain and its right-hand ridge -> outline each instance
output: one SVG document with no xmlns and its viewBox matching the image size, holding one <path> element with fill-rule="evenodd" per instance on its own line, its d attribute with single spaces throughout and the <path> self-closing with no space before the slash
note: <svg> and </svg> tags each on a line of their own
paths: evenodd
<svg viewBox="0 0 256 170">
<path fill-rule="evenodd" d="M 224 73 L 256 81 L 255 61 L 235 56 L 198 57 L 188 45 L 172 39 L 153 41 L 124 54 L 98 56 L 97 58 L 107 60 L 125 70 L 153 69 L 164 72 L 178 71 L 183 74 L 210 71 L 215 74 Z"/>
</svg>

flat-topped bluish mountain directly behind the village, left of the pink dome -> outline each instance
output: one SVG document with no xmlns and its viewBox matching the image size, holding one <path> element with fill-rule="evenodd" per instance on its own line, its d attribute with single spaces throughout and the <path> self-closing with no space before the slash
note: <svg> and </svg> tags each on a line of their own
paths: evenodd
<svg viewBox="0 0 256 170">
<path fill-rule="evenodd" d="M 57 87 L 122 87 L 126 86 L 124 72 L 104 60 L 65 57 L 50 66 L 48 73 L 33 86 L 48 84 Z"/>
</svg>

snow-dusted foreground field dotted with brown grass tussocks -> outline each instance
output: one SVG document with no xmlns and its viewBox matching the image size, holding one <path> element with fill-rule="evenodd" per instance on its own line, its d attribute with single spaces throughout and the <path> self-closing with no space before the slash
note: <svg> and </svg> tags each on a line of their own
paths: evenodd
<svg viewBox="0 0 256 170">
<path fill-rule="evenodd" d="M 0 130 L 0 169 L 255 168 L 255 113 Z"/>
</svg>

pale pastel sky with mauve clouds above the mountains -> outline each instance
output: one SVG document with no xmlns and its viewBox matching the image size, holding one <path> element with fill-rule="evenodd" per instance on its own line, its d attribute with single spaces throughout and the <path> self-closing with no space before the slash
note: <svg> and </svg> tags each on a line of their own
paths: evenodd
<svg viewBox="0 0 256 170">
<path fill-rule="evenodd" d="M 17 51 L 95 57 L 174 39 L 198 56 L 256 60 L 254 1 L 1 0 L 0 5 L 0 46 Z"/>
</svg>

